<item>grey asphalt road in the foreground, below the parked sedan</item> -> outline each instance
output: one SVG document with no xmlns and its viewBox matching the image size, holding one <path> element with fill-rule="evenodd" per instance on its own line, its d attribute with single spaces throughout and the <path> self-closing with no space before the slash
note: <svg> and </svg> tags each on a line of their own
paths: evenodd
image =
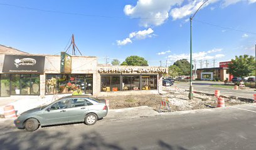
<svg viewBox="0 0 256 150">
<path fill-rule="evenodd" d="M 33 133 L 1 120 L 1 149 L 255 149 L 256 104 L 102 119 Z"/>
</svg>

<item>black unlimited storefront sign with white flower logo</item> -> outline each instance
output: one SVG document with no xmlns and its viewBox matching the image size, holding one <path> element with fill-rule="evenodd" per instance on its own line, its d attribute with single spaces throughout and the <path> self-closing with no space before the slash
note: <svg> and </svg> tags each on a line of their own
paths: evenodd
<svg viewBox="0 0 256 150">
<path fill-rule="evenodd" d="M 3 73 L 43 73 L 45 56 L 5 55 Z"/>
</svg>

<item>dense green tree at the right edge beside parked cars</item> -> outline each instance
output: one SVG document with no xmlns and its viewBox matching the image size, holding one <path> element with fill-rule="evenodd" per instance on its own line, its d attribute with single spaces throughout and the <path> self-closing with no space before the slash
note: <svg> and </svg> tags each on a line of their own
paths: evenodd
<svg viewBox="0 0 256 150">
<path fill-rule="evenodd" d="M 228 64 L 228 73 L 236 77 L 247 77 L 254 74 L 256 69 L 255 58 L 253 56 L 241 55 L 235 56 L 235 59 L 231 60 Z"/>
</svg>

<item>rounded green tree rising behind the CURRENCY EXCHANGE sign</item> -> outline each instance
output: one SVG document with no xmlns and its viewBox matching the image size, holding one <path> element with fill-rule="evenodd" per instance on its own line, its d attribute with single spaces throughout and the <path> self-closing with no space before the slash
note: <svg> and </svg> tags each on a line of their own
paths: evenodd
<svg viewBox="0 0 256 150">
<path fill-rule="evenodd" d="M 139 56 L 129 56 L 121 64 L 121 66 L 149 66 L 147 61 Z"/>
</svg>

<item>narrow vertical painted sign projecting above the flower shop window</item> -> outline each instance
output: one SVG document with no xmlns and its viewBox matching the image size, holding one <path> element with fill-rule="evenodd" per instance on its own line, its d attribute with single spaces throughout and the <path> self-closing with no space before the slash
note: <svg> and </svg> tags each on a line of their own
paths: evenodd
<svg viewBox="0 0 256 150">
<path fill-rule="evenodd" d="M 71 56 L 65 52 L 60 53 L 60 72 L 71 73 Z"/>
</svg>

